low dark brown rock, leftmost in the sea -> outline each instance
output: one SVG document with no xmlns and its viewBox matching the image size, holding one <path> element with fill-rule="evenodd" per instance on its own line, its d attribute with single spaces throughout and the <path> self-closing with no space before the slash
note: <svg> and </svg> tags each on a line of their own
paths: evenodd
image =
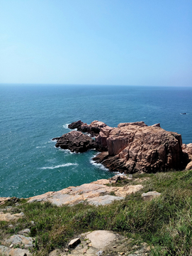
<svg viewBox="0 0 192 256">
<path fill-rule="evenodd" d="M 57 140 L 56 147 L 69 149 L 72 152 L 84 152 L 89 149 L 96 148 L 96 142 L 82 132 L 72 131 L 62 135 L 62 137 L 54 138 Z"/>
</svg>

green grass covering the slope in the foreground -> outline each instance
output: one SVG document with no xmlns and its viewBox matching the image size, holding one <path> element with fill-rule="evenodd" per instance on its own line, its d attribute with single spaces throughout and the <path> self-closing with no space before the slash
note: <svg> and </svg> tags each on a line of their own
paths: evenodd
<svg viewBox="0 0 192 256">
<path fill-rule="evenodd" d="M 155 256 L 191 255 L 192 171 L 135 174 L 129 183 L 140 183 L 135 178 L 146 178 L 142 191 L 108 206 L 23 203 L 15 211 L 22 211 L 25 217 L 13 223 L 11 230 L 10 223 L 0 222 L 1 232 L 12 235 L 13 231 L 30 228 L 30 236 L 35 238 L 33 252 L 36 250 L 38 255 L 65 247 L 75 235 L 90 230 L 113 230 L 133 238 L 133 244 L 147 242 Z M 141 194 L 147 191 L 157 191 L 162 196 L 143 201 Z"/>
</svg>

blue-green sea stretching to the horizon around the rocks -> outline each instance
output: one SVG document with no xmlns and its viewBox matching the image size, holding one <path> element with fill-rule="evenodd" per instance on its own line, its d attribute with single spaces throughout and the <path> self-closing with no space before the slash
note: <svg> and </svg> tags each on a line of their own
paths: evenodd
<svg viewBox="0 0 192 256">
<path fill-rule="evenodd" d="M 79 119 L 111 127 L 159 122 L 191 143 L 191 99 L 192 87 L 0 85 L 0 196 L 26 198 L 113 176 L 91 160 L 94 150 L 55 148 L 51 139 Z"/>
</svg>

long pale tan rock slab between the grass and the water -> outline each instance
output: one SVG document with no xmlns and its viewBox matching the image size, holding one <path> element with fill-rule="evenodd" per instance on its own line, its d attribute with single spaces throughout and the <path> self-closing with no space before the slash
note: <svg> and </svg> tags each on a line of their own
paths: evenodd
<svg viewBox="0 0 192 256">
<path fill-rule="evenodd" d="M 105 205 L 114 200 L 125 198 L 128 194 L 140 191 L 142 185 L 127 185 L 123 187 L 113 187 L 103 185 L 107 180 L 100 180 L 97 183 L 87 183 L 81 186 L 70 186 L 57 192 L 47 192 L 40 196 L 33 196 L 29 198 L 28 203 L 40 201 L 50 201 L 57 206 L 69 205 L 74 206 L 77 203 L 88 202 L 94 205 Z M 111 193 L 114 196 L 110 196 Z"/>
</svg>

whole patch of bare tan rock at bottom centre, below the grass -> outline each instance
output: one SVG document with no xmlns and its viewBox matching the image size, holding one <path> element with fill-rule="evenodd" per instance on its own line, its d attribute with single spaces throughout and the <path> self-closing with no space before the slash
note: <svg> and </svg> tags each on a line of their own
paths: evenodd
<svg viewBox="0 0 192 256">
<path fill-rule="evenodd" d="M 56 249 L 49 256 L 101 256 L 101 255 L 149 255 L 150 247 L 147 243 L 134 245 L 130 251 L 132 239 L 108 230 L 95 230 L 79 235 L 81 243 L 77 247 L 69 249 Z M 69 251 L 70 250 L 70 251 Z"/>
</svg>

